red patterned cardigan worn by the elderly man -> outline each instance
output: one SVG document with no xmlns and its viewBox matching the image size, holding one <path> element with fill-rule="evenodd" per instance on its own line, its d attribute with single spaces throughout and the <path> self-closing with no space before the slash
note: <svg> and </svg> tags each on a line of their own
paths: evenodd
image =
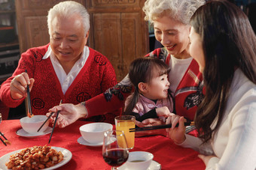
<svg viewBox="0 0 256 170">
<path fill-rule="evenodd" d="M 78 73 L 72 85 L 62 93 L 62 88 L 59 79 L 51 64 L 50 58 L 42 59 L 45 52 L 47 52 L 49 44 L 27 50 L 21 55 L 17 69 L 14 71 L 13 76 L 3 82 L 0 89 L 0 99 L 8 107 L 19 106 L 25 98 L 20 100 L 13 100 L 10 94 L 10 83 L 20 73 L 26 69 L 29 77 L 35 79 L 35 83 L 31 91 L 32 113 L 34 115 L 45 115 L 48 109 L 62 103 L 78 104 L 86 101 L 98 94 L 102 94 L 108 88 L 117 83 L 114 73 L 114 68 L 104 55 L 90 49 L 90 55 L 87 58 L 84 67 Z M 99 107 L 97 103 L 96 107 Z M 92 116 L 93 114 L 91 114 Z M 94 115 L 99 115 L 94 112 Z M 92 121 L 112 121 L 114 116 L 108 116 L 109 120 L 105 117 L 97 117 Z"/>
</svg>

